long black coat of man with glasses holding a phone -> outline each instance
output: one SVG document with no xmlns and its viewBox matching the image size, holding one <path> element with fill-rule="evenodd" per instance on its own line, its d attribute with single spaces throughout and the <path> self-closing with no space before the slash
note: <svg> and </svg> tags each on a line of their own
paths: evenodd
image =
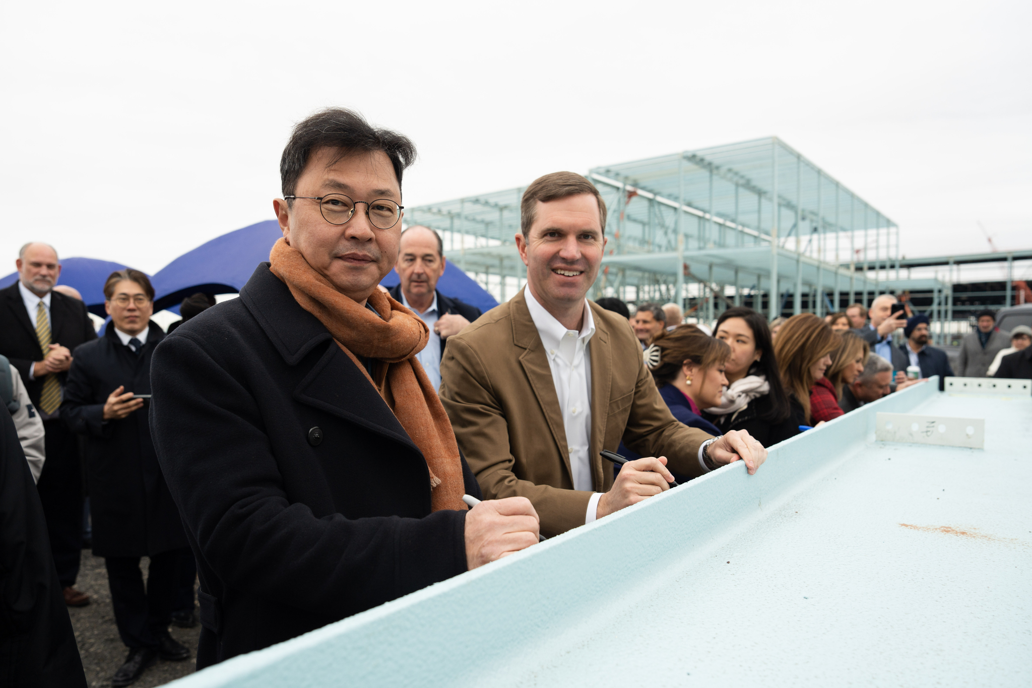
<svg viewBox="0 0 1032 688">
<path fill-rule="evenodd" d="M 144 557 L 187 547 L 151 441 L 147 406 L 103 422 L 107 395 L 119 386 L 151 393 L 151 357 L 164 336 L 152 322 L 137 355 L 108 323 L 104 336 L 72 352 L 61 418 L 86 436 L 93 553 L 99 557 Z"/>
</svg>

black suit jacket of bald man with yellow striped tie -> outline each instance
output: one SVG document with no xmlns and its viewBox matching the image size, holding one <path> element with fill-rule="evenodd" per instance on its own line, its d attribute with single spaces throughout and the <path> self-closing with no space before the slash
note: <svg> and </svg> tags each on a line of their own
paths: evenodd
<svg viewBox="0 0 1032 688">
<path fill-rule="evenodd" d="M 97 338 L 93 321 L 86 306 L 78 299 L 60 292 L 51 293 L 51 341 L 66 347 L 73 352 L 85 341 Z M 43 391 L 42 379 L 29 380 L 29 367 L 35 361 L 43 360 L 36 329 L 25 309 L 25 301 L 15 282 L 10 287 L 0 289 L 0 354 L 10 359 L 11 365 L 22 373 L 22 382 L 35 406 L 39 406 L 39 395 Z M 58 380 L 65 384 L 68 372 L 59 372 Z"/>
</svg>

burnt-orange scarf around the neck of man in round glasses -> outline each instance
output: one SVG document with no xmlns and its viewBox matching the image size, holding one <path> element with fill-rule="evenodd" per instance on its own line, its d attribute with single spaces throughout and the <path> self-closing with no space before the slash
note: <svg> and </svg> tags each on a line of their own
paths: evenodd
<svg viewBox="0 0 1032 688">
<path fill-rule="evenodd" d="M 465 511 L 462 464 L 455 433 L 437 390 L 416 360 L 416 354 L 429 340 L 426 323 L 379 289 L 368 298 L 377 313 L 384 316 L 377 317 L 336 291 L 299 251 L 282 238 L 272 247 L 269 261 L 272 274 L 287 285 L 302 308 L 319 319 L 369 384 L 380 390 L 401 427 L 423 453 L 430 473 L 432 510 Z M 379 385 L 358 356 L 379 362 Z"/>
</svg>

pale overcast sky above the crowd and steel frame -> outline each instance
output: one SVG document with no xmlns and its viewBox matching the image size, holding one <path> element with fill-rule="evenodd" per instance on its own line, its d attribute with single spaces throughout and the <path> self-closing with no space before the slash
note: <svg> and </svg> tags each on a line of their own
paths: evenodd
<svg viewBox="0 0 1032 688">
<path fill-rule="evenodd" d="M 0 256 L 155 272 L 271 219 L 291 126 L 417 144 L 405 204 L 780 136 L 908 256 L 1032 249 L 1032 3 L 8 3 Z"/>
</svg>

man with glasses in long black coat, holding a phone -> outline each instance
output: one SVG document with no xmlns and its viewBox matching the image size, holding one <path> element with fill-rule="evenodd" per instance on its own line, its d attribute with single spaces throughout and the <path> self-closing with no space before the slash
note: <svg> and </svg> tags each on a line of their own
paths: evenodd
<svg viewBox="0 0 1032 688">
<path fill-rule="evenodd" d="M 146 399 L 134 397 L 151 395 L 151 358 L 165 335 L 151 321 L 151 281 L 132 268 L 112 272 L 104 307 L 111 321 L 104 336 L 75 350 L 61 413 L 86 437 L 93 553 L 104 557 L 115 622 L 129 648 L 111 678 L 118 688 L 159 656 L 190 657 L 168 634 L 187 540 L 154 453 Z M 146 589 L 141 557 L 150 558 Z"/>
</svg>

